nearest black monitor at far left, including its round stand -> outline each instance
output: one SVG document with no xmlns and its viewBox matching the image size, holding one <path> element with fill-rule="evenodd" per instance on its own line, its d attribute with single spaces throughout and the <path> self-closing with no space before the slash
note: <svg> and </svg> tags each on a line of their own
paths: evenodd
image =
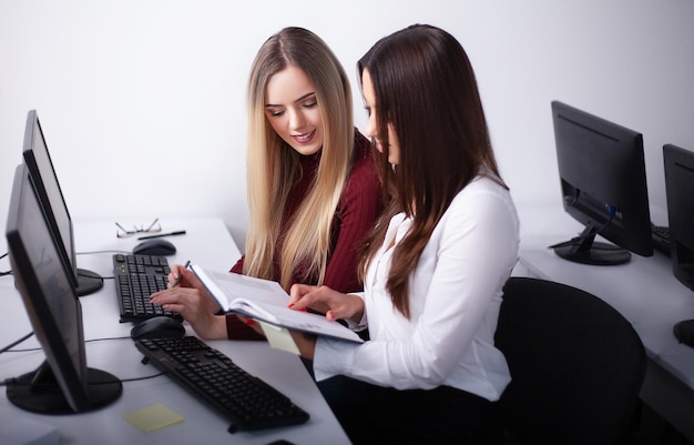
<svg viewBox="0 0 694 445">
<path fill-rule="evenodd" d="M 23 163 L 14 174 L 6 236 L 16 286 L 45 354 L 35 371 L 8 381 L 8 400 L 43 414 L 80 413 L 115 401 L 121 382 L 86 366 L 82 306 Z"/>
</svg>

